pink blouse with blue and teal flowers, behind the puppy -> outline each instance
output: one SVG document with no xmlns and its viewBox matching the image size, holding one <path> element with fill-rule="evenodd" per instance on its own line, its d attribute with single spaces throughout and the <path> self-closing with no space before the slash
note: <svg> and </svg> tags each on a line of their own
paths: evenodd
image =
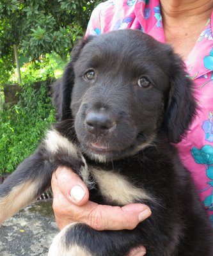
<svg viewBox="0 0 213 256">
<path fill-rule="evenodd" d="M 203 28 L 185 66 L 196 88 L 200 110 L 177 148 L 191 171 L 200 198 L 213 223 L 213 12 Z M 116 29 L 141 29 L 165 42 L 159 0 L 114 0 L 99 4 L 91 15 L 86 35 Z"/>
</svg>

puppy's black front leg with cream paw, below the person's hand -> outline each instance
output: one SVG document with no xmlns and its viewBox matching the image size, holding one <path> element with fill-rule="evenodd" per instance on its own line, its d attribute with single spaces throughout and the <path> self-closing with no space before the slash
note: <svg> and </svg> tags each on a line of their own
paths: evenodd
<svg viewBox="0 0 213 256">
<path fill-rule="evenodd" d="M 84 223 L 72 223 L 54 238 L 48 256 L 123 256 L 138 236 L 132 230 L 97 231 Z"/>
</svg>

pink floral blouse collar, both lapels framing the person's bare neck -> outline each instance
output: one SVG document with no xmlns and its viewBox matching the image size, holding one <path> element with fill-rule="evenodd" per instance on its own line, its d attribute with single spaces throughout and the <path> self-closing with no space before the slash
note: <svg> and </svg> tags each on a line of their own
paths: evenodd
<svg viewBox="0 0 213 256">
<path fill-rule="evenodd" d="M 159 42 L 165 42 L 162 26 L 161 4 L 159 0 L 138 0 L 135 6 L 135 15 L 141 24 L 141 29 L 153 36 Z M 185 66 L 189 76 L 196 79 L 213 70 L 213 11 L 207 25 L 201 32 L 198 40 L 189 53 Z M 200 61 L 198 61 L 200 60 Z"/>
</svg>

